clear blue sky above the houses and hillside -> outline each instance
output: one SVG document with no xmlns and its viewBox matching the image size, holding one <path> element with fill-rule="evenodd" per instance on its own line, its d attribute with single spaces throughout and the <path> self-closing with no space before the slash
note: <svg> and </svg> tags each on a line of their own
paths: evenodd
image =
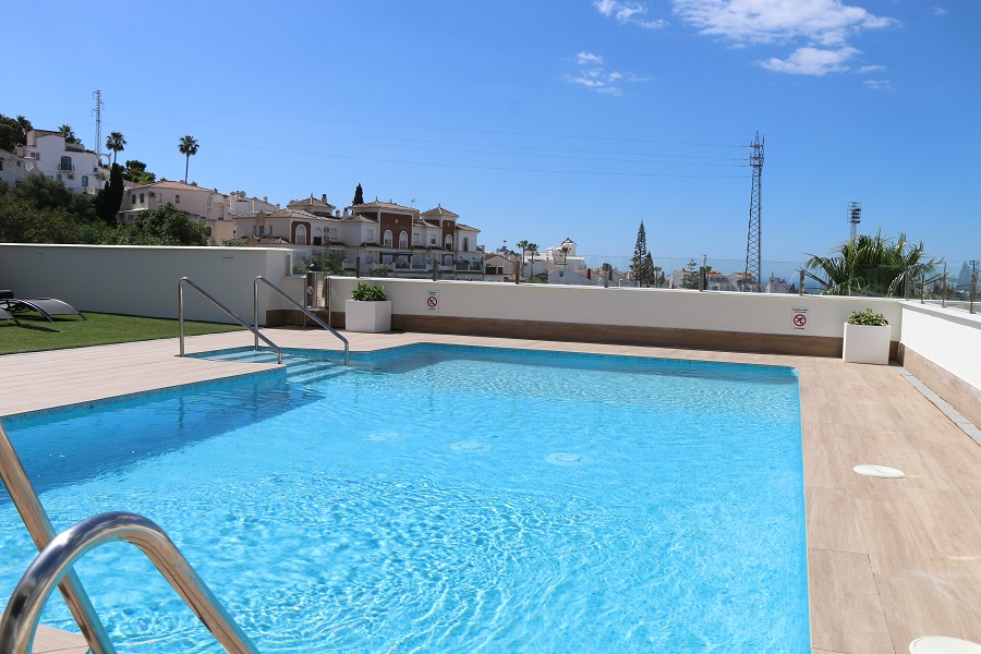
<svg viewBox="0 0 981 654">
<path fill-rule="evenodd" d="M 488 249 L 570 237 L 656 258 L 746 256 L 765 138 L 763 258 L 861 231 L 981 257 L 981 3 L 543 0 L 56 3 L 17 26 L 0 112 L 122 132 L 121 160 L 286 204 L 428 209 Z M 53 17 L 50 17 L 53 16 Z"/>
</svg>

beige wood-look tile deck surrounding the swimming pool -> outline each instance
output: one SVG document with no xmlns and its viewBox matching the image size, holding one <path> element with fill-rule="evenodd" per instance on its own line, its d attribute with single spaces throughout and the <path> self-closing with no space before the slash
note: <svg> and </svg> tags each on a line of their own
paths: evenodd
<svg viewBox="0 0 981 654">
<path fill-rule="evenodd" d="M 336 349 L 338 343 L 323 331 L 270 332 L 283 347 Z M 445 342 L 795 366 L 801 386 L 812 654 L 906 654 L 910 640 L 928 634 L 981 640 L 981 447 L 893 368 L 669 348 L 346 336 L 355 351 Z M 190 338 L 187 350 L 251 342 L 243 332 L 209 335 Z M 177 351 L 175 340 L 161 340 L 0 358 L 0 415 L 272 367 L 179 359 Z M 907 476 L 860 477 L 851 470 L 859 462 L 898 468 Z"/>
</svg>

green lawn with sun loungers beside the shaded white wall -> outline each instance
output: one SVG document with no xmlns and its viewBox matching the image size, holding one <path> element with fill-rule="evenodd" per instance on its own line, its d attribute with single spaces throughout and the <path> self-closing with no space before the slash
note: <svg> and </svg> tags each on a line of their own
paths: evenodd
<svg viewBox="0 0 981 654">
<path fill-rule="evenodd" d="M 178 322 L 165 318 L 141 318 L 85 312 L 87 320 L 78 316 L 52 316 L 49 323 L 34 313 L 19 313 L 21 326 L 13 320 L 0 320 L 0 354 L 39 352 L 85 348 L 106 343 L 125 343 L 155 338 L 177 338 Z M 218 323 L 192 323 L 184 320 L 184 335 L 237 331 L 239 325 Z"/>
</svg>

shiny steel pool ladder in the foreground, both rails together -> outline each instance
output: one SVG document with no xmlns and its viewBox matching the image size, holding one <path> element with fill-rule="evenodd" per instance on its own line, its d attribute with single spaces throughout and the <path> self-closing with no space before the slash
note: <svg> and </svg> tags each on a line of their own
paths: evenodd
<svg viewBox="0 0 981 654">
<path fill-rule="evenodd" d="M 77 559 L 105 545 L 124 541 L 156 566 L 215 639 L 232 654 L 258 654 L 204 580 L 157 524 L 124 511 L 86 518 L 55 535 L 16 450 L 0 424 L 0 479 L 40 554 L 28 566 L 0 618 L 0 652 L 29 654 L 41 610 L 58 588 L 95 654 L 116 654 L 85 589 L 73 570 Z"/>
</svg>

